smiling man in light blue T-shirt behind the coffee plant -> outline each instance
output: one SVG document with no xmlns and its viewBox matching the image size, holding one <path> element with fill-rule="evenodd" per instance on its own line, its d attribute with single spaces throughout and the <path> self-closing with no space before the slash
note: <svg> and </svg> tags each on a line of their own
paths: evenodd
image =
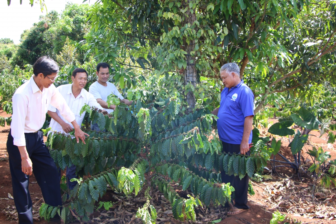
<svg viewBox="0 0 336 224">
<path fill-rule="evenodd" d="M 110 78 L 110 65 L 105 62 L 101 62 L 97 64 L 96 75 L 98 76 L 98 80 L 91 84 L 89 87 L 89 93 L 91 93 L 100 104 L 101 107 L 107 109 L 108 113 L 111 113 L 116 105 L 107 106 L 107 97 L 113 93 L 119 99 L 122 100 L 123 103 L 127 105 L 131 105 L 133 101 L 129 101 L 128 99 L 124 99 L 124 97 L 119 93 L 117 87 L 108 82 Z M 98 128 L 98 124 L 91 124 L 91 130 L 100 131 Z"/>
</svg>

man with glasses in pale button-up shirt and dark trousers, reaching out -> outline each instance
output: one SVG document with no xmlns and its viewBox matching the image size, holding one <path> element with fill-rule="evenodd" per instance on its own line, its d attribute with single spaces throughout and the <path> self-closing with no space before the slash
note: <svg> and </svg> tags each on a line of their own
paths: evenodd
<svg viewBox="0 0 336 224">
<path fill-rule="evenodd" d="M 56 91 L 53 82 L 57 72 L 55 61 L 46 56 L 40 57 L 34 64 L 32 78 L 17 88 L 12 98 L 13 114 L 7 152 L 20 224 L 33 224 L 32 200 L 28 190 L 29 175 L 32 175 L 33 170 L 45 203 L 62 205 L 58 170 L 43 142 L 43 133 L 39 131 L 45 122 L 49 104 L 59 109 L 61 115 L 72 123 L 77 142 L 79 138 L 84 142 L 85 135 L 89 136 L 80 129 L 75 115 Z M 59 217 L 55 219 L 57 221 Z"/>
</svg>

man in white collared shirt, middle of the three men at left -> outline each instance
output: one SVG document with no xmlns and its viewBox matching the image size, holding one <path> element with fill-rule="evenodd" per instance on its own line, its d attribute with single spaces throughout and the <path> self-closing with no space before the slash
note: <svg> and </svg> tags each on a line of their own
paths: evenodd
<svg viewBox="0 0 336 224">
<path fill-rule="evenodd" d="M 85 116 L 85 111 L 80 115 L 80 110 L 84 104 L 97 107 L 104 110 L 91 93 L 84 89 L 87 83 L 87 72 L 84 69 L 77 68 L 72 72 L 72 84 L 61 85 L 56 88 L 64 97 L 71 111 L 75 114 L 77 124 L 81 125 Z M 56 107 L 51 104 L 48 107 L 48 114 L 51 117 L 50 125 L 52 131 L 61 133 L 69 133 L 73 131 L 73 126 L 68 122 Z M 76 175 L 76 166 L 67 167 L 67 185 L 69 189 L 73 189 L 77 182 L 71 182 L 72 178 L 78 178 Z"/>
</svg>

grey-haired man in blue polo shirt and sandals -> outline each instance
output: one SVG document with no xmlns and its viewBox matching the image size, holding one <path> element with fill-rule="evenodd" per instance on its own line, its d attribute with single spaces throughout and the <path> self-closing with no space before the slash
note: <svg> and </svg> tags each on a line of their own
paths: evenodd
<svg viewBox="0 0 336 224">
<path fill-rule="evenodd" d="M 239 74 L 236 63 L 227 63 L 220 68 L 220 78 L 225 88 L 221 93 L 220 106 L 212 114 L 218 116 L 217 130 L 223 153 L 250 155 L 254 95 Z M 240 180 L 239 176 L 228 176 L 224 171 L 221 175 L 223 183 L 230 183 L 235 188 L 235 204 L 227 215 L 233 216 L 248 210 L 249 176 Z"/>
</svg>

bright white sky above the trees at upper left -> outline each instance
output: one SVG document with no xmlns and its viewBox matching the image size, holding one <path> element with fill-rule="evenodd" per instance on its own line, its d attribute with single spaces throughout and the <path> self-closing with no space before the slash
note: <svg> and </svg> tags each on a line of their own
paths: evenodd
<svg viewBox="0 0 336 224">
<path fill-rule="evenodd" d="M 0 39 L 9 38 L 14 41 L 15 44 L 20 43 L 20 36 L 24 30 L 27 30 L 33 26 L 34 23 L 39 21 L 40 15 L 45 15 L 46 10 L 41 12 L 40 3 L 35 3 L 31 7 L 29 0 L 11 0 L 10 5 L 7 5 L 7 1 L 0 0 Z M 77 4 L 88 4 L 89 1 L 82 3 L 83 0 L 45 0 L 44 1 L 48 12 L 56 10 L 61 12 L 64 10 L 65 5 L 68 2 Z M 91 0 L 89 4 L 93 4 L 95 1 Z"/>
</svg>

